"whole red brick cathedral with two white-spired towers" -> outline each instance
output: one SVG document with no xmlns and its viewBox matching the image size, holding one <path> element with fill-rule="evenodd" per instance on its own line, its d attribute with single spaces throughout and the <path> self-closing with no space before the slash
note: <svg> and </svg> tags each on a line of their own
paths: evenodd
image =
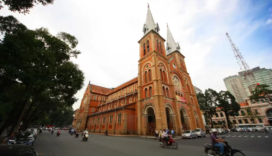
<svg viewBox="0 0 272 156">
<path fill-rule="evenodd" d="M 88 84 L 72 127 L 89 132 L 150 135 L 151 129 L 204 128 L 179 43 L 167 26 L 167 46 L 148 7 L 138 41 L 138 77 L 116 88 Z"/>
</svg>

